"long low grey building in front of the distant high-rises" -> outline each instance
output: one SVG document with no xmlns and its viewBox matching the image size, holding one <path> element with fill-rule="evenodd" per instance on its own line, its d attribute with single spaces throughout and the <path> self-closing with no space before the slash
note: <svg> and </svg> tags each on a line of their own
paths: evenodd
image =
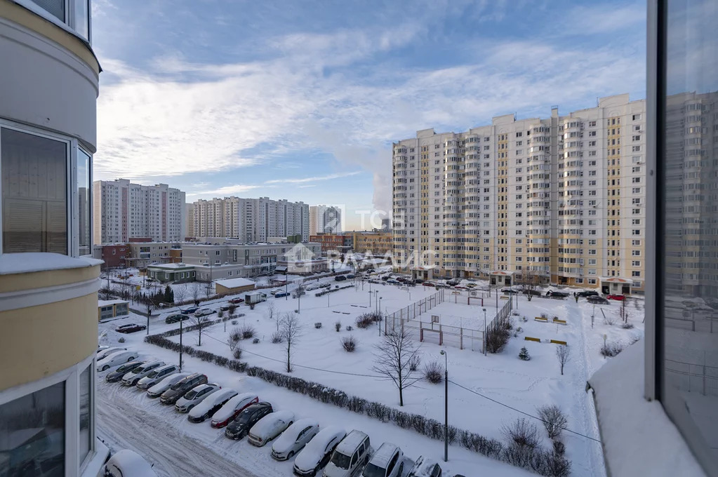
<svg viewBox="0 0 718 477">
<path fill-rule="evenodd" d="M 183 243 L 182 260 L 187 265 L 195 265 L 198 281 L 211 281 L 221 278 L 253 278 L 258 275 L 271 275 L 277 262 L 286 259 L 286 254 L 297 250 L 308 250 L 304 260 L 318 258 L 322 252 L 319 243 Z"/>
</svg>

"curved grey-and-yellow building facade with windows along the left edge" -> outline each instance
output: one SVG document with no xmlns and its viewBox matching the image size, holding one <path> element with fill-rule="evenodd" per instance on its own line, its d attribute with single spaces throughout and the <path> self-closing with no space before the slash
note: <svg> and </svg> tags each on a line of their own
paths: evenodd
<svg viewBox="0 0 718 477">
<path fill-rule="evenodd" d="M 97 476 L 89 1 L 0 0 L 0 475 Z M 11 67 L 9 66 L 11 65 Z"/>
</svg>

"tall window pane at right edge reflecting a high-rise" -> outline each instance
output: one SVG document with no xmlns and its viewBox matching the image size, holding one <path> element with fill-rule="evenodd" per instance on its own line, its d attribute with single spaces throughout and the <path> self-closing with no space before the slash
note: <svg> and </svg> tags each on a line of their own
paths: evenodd
<svg viewBox="0 0 718 477">
<path fill-rule="evenodd" d="M 666 0 L 665 129 L 658 131 L 659 397 L 694 454 L 718 465 L 718 5 Z M 699 118 L 709 126 L 694 128 Z M 686 146 L 695 145 L 695 146 Z M 661 316 L 659 315 L 659 316 Z M 659 335 L 660 336 L 660 335 Z"/>
</svg>

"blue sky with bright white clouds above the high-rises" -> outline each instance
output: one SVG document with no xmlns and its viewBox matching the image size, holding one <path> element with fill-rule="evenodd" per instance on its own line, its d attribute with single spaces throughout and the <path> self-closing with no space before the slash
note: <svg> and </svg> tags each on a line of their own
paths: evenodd
<svg viewBox="0 0 718 477">
<path fill-rule="evenodd" d="M 95 0 L 95 179 L 391 211 L 391 143 L 645 98 L 643 1 Z"/>
</svg>

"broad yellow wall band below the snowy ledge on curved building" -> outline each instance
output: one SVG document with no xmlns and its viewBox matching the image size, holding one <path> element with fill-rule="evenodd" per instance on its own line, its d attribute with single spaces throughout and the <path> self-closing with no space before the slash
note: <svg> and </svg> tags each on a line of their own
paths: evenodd
<svg viewBox="0 0 718 477">
<path fill-rule="evenodd" d="M 0 329 L 1 391 L 59 372 L 95 352 L 97 293 L 0 312 Z"/>
</svg>

